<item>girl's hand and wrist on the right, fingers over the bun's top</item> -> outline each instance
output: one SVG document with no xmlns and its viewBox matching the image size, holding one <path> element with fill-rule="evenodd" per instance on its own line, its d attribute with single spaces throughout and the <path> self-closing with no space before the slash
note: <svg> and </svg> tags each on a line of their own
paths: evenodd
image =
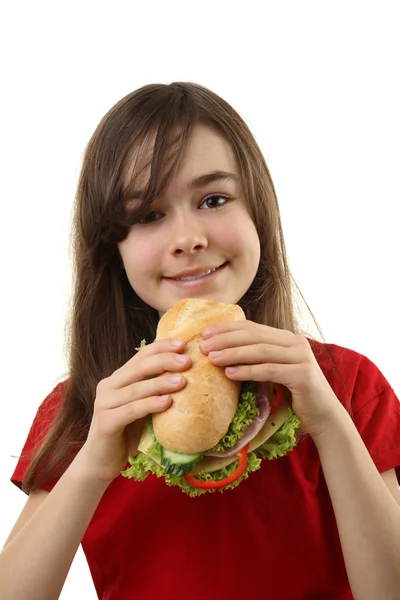
<svg viewBox="0 0 400 600">
<path fill-rule="evenodd" d="M 202 332 L 201 351 L 236 381 L 280 383 L 292 394 L 301 429 L 319 435 L 343 410 L 321 371 L 308 340 L 284 329 L 252 321 L 229 321 Z"/>
</svg>

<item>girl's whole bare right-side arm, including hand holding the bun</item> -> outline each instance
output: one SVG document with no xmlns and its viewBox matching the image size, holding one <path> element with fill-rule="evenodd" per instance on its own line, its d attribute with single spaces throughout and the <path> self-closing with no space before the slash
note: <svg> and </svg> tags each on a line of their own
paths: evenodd
<svg viewBox="0 0 400 600">
<path fill-rule="evenodd" d="M 252 321 L 218 323 L 202 337 L 203 352 L 212 364 L 229 367 L 230 379 L 289 389 L 301 428 L 320 455 L 355 600 L 398 600 L 400 506 L 389 491 L 392 475 L 379 475 L 309 340 Z"/>
</svg>

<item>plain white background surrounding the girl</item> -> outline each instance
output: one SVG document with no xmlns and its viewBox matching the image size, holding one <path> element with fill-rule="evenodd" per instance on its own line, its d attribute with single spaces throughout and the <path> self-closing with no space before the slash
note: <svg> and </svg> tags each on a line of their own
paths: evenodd
<svg viewBox="0 0 400 600">
<path fill-rule="evenodd" d="M 26 500 L 9 483 L 15 457 L 66 369 L 82 153 L 144 84 L 201 83 L 245 118 L 326 340 L 367 355 L 399 395 L 396 0 L 22 1 L 1 13 L 0 546 Z M 81 550 L 61 598 L 96 598 Z"/>
</svg>

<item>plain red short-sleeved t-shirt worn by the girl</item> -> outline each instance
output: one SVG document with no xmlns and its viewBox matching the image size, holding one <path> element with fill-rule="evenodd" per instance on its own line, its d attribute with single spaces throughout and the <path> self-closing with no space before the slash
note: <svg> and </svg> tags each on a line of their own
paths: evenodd
<svg viewBox="0 0 400 600">
<path fill-rule="evenodd" d="M 331 348 L 352 399 L 353 420 L 377 469 L 396 467 L 400 480 L 398 399 L 368 358 Z M 317 359 L 348 409 L 329 362 Z M 61 394 L 62 384 L 42 404 L 24 450 L 35 444 Z M 25 469 L 20 461 L 15 484 Z M 154 475 L 144 482 L 118 477 L 82 546 L 102 600 L 353 598 L 319 456 L 308 436 L 222 494 L 190 498 Z"/>
</svg>

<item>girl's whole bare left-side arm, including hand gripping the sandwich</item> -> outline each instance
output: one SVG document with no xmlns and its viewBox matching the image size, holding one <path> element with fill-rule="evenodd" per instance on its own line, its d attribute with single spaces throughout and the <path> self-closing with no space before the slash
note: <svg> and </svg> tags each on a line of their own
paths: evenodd
<svg viewBox="0 0 400 600">
<path fill-rule="evenodd" d="M 126 465 L 126 427 L 165 410 L 186 384 L 167 375 L 190 366 L 176 360 L 185 344 L 175 342 L 149 344 L 100 381 L 85 444 L 48 496 L 33 499 L 36 510 L 30 503 L 0 553 L 0 600 L 57 600 L 97 505 Z"/>
</svg>

